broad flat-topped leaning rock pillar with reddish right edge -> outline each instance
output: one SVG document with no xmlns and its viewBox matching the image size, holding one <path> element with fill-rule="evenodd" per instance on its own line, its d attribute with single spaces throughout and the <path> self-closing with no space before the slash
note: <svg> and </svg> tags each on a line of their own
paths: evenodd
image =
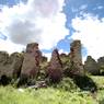
<svg viewBox="0 0 104 104">
<path fill-rule="evenodd" d="M 21 83 L 31 83 L 39 71 L 42 53 L 37 43 L 27 44 L 21 71 Z"/>
</svg>

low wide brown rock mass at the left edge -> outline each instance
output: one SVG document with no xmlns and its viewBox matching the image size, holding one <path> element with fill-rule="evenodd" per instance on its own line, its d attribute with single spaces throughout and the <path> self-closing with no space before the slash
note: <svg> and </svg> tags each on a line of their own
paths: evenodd
<svg viewBox="0 0 104 104">
<path fill-rule="evenodd" d="M 0 82 L 5 79 L 16 79 L 21 72 L 23 55 L 13 53 L 11 56 L 5 51 L 0 51 Z"/>
</svg>

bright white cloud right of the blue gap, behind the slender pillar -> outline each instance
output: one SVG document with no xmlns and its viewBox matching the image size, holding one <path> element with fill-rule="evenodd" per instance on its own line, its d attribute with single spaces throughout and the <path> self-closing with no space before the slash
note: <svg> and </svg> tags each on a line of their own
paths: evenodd
<svg viewBox="0 0 104 104">
<path fill-rule="evenodd" d="M 88 49 L 88 55 L 95 59 L 104 56 L 104 19 L 99 20 L 92 14 L 84 14 L 84 20 L 81 18 L 73 19 L 72 26 L 77 31 L 72 38 L 81 39 Z"/>
</svg>

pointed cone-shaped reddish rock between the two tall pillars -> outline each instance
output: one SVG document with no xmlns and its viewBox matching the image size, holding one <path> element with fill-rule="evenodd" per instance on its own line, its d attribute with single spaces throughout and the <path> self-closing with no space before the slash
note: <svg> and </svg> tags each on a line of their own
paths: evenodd
<svg viewBox="0 0 104 104">
<path fill-rule="evenodd" d="M 54 49 L 47 68 L 47 76 L 51 82 L 59 82 L 62 77 L 62 63 L 57 49 Z"/>
</svg>

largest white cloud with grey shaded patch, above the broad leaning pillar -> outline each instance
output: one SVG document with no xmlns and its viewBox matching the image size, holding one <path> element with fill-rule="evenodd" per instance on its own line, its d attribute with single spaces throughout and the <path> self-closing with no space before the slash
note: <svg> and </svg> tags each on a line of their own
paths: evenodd
<svg viewBox="0 0 104 104">
<path fill-rule="evenodd" d="M 41 48 L 50 49 L 69 33 L 65 27 L 66 15 L 61 12 L 63 1 L 28 0 L 26 4 L 3 7 L 0 32 L 9 37 L 10 45 L 38 42 Z"/>
</svg>

